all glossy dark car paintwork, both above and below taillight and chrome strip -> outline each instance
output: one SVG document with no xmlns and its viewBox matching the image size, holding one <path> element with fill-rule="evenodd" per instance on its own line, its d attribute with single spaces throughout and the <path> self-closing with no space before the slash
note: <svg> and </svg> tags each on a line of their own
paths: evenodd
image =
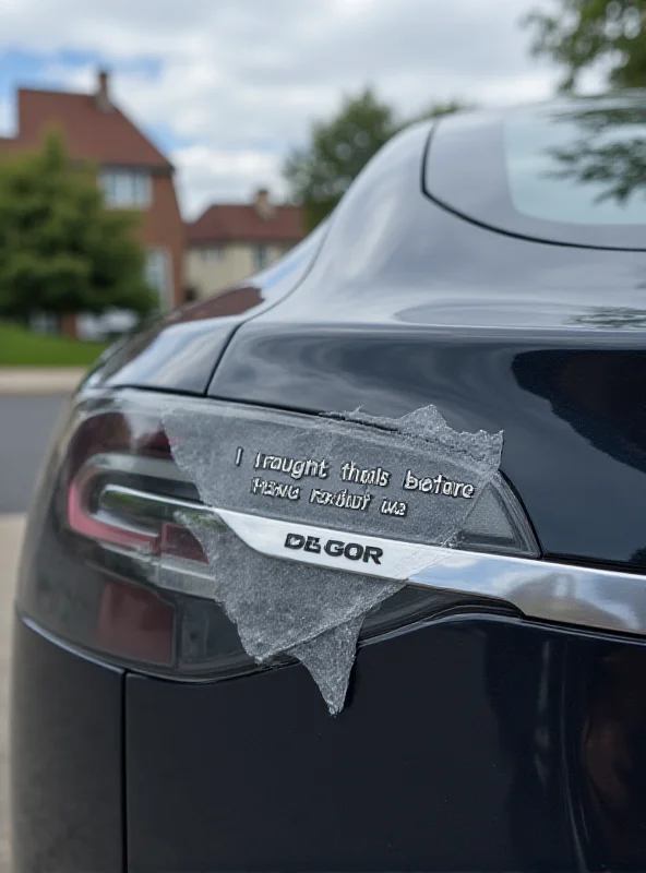
<svg viewBox="0 0 646 873">
<path fill-rule="evenodd" d="M 238 289 L 238 314 L 192 310 L 88 384 L 204 393 L 222 355 L 212 396 L 434 403 L 453 427 L 504 429 L 546 552 L 644 567 L 646 255 L 448 213 L 422 192 L 429 132 L 384 150 L 275 306 Z M 439 619 L 363 646 L 336 719 L 300 666 L 123 679 L 20 624 L 14 677 L 16 873 L 120 870 L 122 851 L 131 872 L 646 866 L 643 641 Z"/>
</svg>

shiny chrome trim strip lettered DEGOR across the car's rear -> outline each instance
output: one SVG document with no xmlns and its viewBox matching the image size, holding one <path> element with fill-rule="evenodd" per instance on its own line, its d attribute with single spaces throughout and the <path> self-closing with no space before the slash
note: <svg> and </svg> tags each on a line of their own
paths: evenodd
<svg viewBox="0 0 646 873">
<path fill-rule="evenodd" d="M 105 509 L 118 511 L 120 499 L 125 499 L 131 501 L 131 506 L 139 501 L 149 509 L 155 505 L 157 512 L 164 506 L 170 516 L 175 512 L 195 513 L 195 518 L 202 523 L 226 524 L 247 546 L 268 558 L 504 600 L 528 618 L 646 635 L 646 576 L 643 574 L 367 537 L 211 509 L 120 486 L 109 486 L 106 491 Z M 320 551 L 286 548 L 288 535 L 313 537 L 323 548 Z M 328 554 L 324 549 L 328 540 L 354 543 L 363 550 L 378 549 L 382 552 L 380 562 L 364 561 L 362 557 L 349 560 L 342 553 Z"/>
</svg>

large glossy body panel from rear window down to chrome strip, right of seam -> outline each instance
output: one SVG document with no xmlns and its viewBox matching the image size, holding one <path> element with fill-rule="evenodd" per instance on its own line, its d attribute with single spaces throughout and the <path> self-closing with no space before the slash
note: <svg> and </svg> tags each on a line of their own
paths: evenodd
<svg viewBox="0 0 646 873">
<path fill-rule="evenodd" d="M 503 429 L 503 473 L 547 554 L 645 566 L 646 253 L 443 211 L 421 191 L 427 136 L 384 150 L 299 288 L 238 330 L 210 394 L 384 416 L 432 403 L 454 428 Z"/>
</svg>

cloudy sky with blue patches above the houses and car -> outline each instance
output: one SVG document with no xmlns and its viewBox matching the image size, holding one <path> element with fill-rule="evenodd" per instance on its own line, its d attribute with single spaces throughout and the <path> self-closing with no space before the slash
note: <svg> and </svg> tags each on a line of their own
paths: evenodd
<svg viewBox="0 0 646 873">
<path fill-rule="evenodd" d="M 554 0 L 0 0 L 0 134 L 17 86 L 115 101 L 177 167 L 189 218 L 259 187 L 343 95 L 372 85 L 407 117 L 453 97 L 540 100 L 558 71 L 519 19 Z M 593 83 L 594 84 L 594 83 Z"/>
</svg>

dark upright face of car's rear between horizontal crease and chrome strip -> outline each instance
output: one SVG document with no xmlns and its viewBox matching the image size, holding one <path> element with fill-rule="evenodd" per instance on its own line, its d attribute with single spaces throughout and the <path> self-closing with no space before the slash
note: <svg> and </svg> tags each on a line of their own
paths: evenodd
<svg viewBox="0 0 646 873">
<path fill-rule="evenodd" d="M 312 412 L 361 406 L 398 417 L 434 404 L 456 430 L 502 429 L 501 470 L 547 557 L 643 567 L 646 348 L 637 342 L 635 350 L 621 340 L 595 348 L 583 338 L 258 325 L 230 349 L 231 369 L 213 391 Z M 258 380 L 243 387 L 238 368 Z"/>
</svg>

